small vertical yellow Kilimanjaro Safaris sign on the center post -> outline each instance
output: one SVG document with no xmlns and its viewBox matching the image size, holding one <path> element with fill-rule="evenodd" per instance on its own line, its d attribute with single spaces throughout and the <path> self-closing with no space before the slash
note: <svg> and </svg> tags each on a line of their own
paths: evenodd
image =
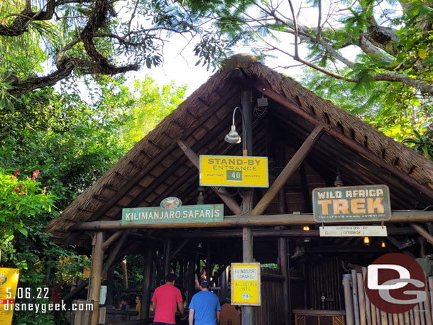
<svg viewBox="0 0 433 325">
<path fill-rule="evenodd" d="M 260 263 L 231 263 L 231 304 L 261 305 Z"/>
</svg>

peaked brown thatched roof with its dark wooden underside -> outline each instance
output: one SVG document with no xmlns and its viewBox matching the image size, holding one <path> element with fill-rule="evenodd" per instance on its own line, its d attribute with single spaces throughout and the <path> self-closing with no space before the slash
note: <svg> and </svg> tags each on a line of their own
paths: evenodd
<svg viewBox="0 0 433 325">
<path fill-rule="evenodd" d="M 260 62 L 226 67 L 228 70 L 210 77 L 61 216 L 50 221 L 46 231 L 62 240 L 77 222 L 121 219 L 124 207 L 156 206 L 168 196 L 195 204 L 198 172 L 176 141 L 182 139 L 197 154 L 241 155 L 239 146 L 224 143 L 223 138 L 234 107 L 241 106 L 241 90 L 250 88 L 255 89 L 256 97 L 265 94 L 270 101 L 268 111 L 253 124 L 254 155 L 270 155 L 272 141 L 268 137 L 275 132 L 296 150 L 314 124 L 320 123 L 327 134 L 314 146 L 308 161 L 322 178 L 326 179 L 327 173 L 335 175 L 338 164 L 347 185 L 388 184 L 393 208 L 417 209 L 432 201 L 432 161 Z M 398 172 L 409 179 L 402 180 Z M 407 184 L 407 180 L 414 183 Z M 308 181 L 308 187 L 314 188 L 314 182 Z M 217 197 L 209 199 L 219 202 Z"/>
</svg>

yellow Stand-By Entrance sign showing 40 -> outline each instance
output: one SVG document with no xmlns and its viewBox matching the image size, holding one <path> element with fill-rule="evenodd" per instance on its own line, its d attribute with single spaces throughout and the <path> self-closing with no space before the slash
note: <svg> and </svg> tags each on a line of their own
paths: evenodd
<svg viewBox="0 0 433 325">
<path fill-rule="evenodd" d="M 200 155 L 200 185 L 269 187 L 268 157 Z"/>
</svg>

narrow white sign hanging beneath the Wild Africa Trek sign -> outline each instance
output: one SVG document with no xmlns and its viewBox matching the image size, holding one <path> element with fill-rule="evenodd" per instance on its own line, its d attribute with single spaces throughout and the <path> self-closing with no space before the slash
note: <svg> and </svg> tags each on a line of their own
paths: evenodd
<svg viewBox="0 0 433 325">
<path fill-rule="evenodd" d="M 320 237 L 386 237 L 386 226 L 326 226 L 319 227 Z"/>
</svg>

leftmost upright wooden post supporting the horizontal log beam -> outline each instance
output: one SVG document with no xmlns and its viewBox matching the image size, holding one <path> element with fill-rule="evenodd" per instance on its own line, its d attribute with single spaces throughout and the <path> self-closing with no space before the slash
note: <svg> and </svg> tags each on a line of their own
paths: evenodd
<svg viewBox="0 0 433 325">
<path fill-rule="evenodd" d="M 98 231 L 94 236 L 94 246 L 92 250 L 92 267 L 90 269 L 90 283 L 87 300 L 93 304 L 93 311 L 90 320 L 91 325 L 98 325 L 99 319 L 99 293 L 101 291 L 102 263 L 104 260 L 104 233 Z"/>
</svg>

